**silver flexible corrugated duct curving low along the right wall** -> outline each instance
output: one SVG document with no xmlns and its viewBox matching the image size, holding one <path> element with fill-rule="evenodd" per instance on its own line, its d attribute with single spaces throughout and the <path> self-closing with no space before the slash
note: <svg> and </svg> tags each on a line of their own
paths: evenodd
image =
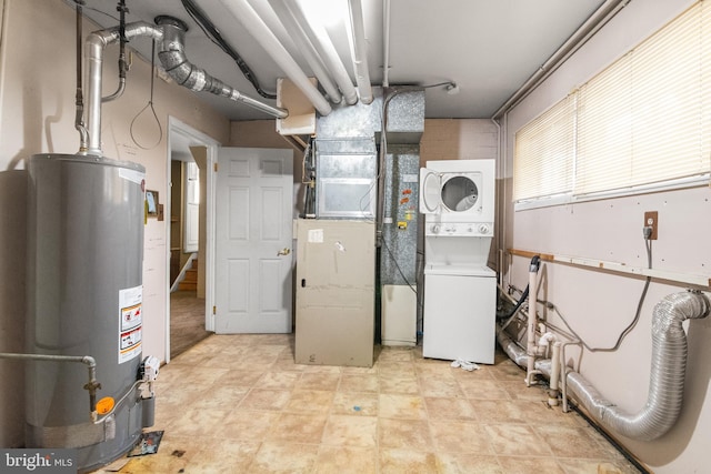
<svg viewBox="0 0 711 474">
<path fill-rule="evenodd" d="M 657 303 L 652 316 L 652 366 L 644 407 L 627 413 L 604 399 L 580 373 L 568 372 L 567 387 L 590 415 L 604 427 L 633 440 L 651 441 L 662 436 L 677 422 L 683 400 L 687 370 L 685 320 L 709 315 L 711 303 L 699 292 L 673 293 Z M 528 355 L 503 332 L 499 344 L 521 366 Z M 537 361 L 535 367 L 550 375 L 550 361 Z M 562 379 L 562 377 L 561 377 Z"/>
</svg>

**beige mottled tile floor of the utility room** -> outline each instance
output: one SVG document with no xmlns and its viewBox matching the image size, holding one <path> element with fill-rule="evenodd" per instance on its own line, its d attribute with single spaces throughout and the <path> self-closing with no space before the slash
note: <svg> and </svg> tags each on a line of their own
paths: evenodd
<svg viewBox="0 0 711 474">
<path fill-rule="evenodd" d="M 157 454 L 120 473 L 638 473 L 505 355 L 467 372 L 421 349 L 299 365 L 292 335 L 212 335 L 163 366 Z"/>
</svg>

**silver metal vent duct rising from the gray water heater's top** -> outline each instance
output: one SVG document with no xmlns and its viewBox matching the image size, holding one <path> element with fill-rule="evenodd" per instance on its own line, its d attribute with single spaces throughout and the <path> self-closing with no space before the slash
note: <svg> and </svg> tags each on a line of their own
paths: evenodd
<svg viewBox="0 0 711 474">
<path fill-rule="evenodd" d="M 219 79 L 208 74 L 204 70 L 192 64 L 184 53 L 186 24 L 170 17 L 158 17 L 160 24 L 153 26 L 143 21 L 126 26 L 124 34 L 128 40 L 138 37 L 151 38 L 159 44 L 158 57 L 168 74 L 179 84 L 193 91 L 206 91 L 246 105 L 259 109 L 273 117 L 283 119 L 288 111 L 259 102 L 243 95 Z M 94 31 L 87 37 L 84 59 L 88 67 L 87 102 L 88 102 L 88 154 L 101 155 L 101 72 L 103 51 L 120 40 L 119 28 Z"/>
</svg>

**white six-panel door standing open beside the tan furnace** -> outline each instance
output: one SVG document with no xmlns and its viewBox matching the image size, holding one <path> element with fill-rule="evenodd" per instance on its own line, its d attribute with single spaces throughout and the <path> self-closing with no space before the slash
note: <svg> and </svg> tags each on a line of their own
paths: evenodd
<svg viewBox="0 0 711 474">
<path fill-rule="evenodd" d="M 214 330 L 291 332 L 291 150 L 222 148 L 216 193 Z"/>
</svg>

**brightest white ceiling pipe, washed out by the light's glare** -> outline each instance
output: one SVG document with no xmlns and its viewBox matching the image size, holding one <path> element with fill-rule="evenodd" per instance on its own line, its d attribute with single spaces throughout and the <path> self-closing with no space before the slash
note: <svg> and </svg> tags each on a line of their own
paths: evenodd
<svg viewBox="0 0 711 474">
<path fill-rule="evenodd" d="M 318 24 L 318 22 L 314 22 L 313 24 L 309 23 L 301 10 L 301 7 L 299 7 L 296 0 L 284 0 L 284 2 L 316 47 L 327 68 L 331 71 L 331 74 L 333 74 L 336 83 L 343 93 L 346 103 L 353 105 L 358 102 L 358 93 L 356 92 L 351 78 L 348 75 L 348 71 L 346 70 L 341 58 L 338 56 L 338 51 L 336 51 L 336 47 L 329 38 L 329 33 L 326 31 L 326 28 L 323 28 L 322 24 Z"/>
</svg>

